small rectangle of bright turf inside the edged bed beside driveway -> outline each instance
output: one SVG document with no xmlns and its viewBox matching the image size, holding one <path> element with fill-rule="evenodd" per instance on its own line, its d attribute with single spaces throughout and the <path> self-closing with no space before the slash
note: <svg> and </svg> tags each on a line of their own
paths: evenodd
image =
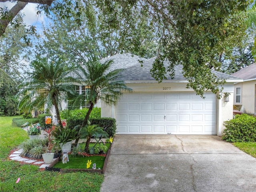
<svg viewBox="0 0 256 192">
<path fill-rule="evenodd" d="M 106 157 L 103 157 L 103 156 L 90 156 L 90 157 L 76 156 L 76 157 L 73 157 L 73 156 L 69 155 L 68 158 L 69 158 L 69 162 L 63 164 L 62 161 L 59 161 L 53 167 L 54 168 L 62 168 L 62 169 L 86 169 L 87 161 L 92 160 L 92 164 L 96 163 L 97 169 L 98 169 L 98 167 L 100 169 L 102 169 L 103 165 L 104 165 L 104 160 Z M 89 169 L 92 168 L 92 164 Z"/>
</svg>

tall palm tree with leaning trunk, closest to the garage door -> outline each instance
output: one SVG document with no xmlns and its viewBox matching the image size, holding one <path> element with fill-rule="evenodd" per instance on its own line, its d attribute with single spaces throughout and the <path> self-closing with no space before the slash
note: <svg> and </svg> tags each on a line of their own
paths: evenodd
<svg viewBox="0 0 256 192">
<path fill-rule="evenodd" d="M 86 126 L 90 113 L 98 100 L 102 100 L 110 106 L 116 105 L 122 96 L 122 91 L 132 91 L 124 81 L 120 80 L 120 72 L 124 69 L 111 71 L 112 64 L 113 60 L 104 63 L 89 61 L 84 66 L 80 66 L 78 76 L 80 79 L 84 79 L 81 84 L 86 85 L 89 89 L 86 94 L 86 101 L 90 105 L 81 127 Z"/>
</svg>

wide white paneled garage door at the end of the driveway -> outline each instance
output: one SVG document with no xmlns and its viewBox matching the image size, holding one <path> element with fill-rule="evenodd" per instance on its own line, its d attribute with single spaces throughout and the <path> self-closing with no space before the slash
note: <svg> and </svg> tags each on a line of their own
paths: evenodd
<svg viewBox="0 0 256 192">
<path fill-rule="evenodd" d="M 216 134 L 216 96 L 126 93 L 116 106 L 117 134 Z"/>
</svg>

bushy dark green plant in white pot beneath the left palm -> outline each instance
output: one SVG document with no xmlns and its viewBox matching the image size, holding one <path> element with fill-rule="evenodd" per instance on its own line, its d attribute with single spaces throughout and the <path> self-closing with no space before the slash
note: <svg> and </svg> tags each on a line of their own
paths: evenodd
<svg viewBox="0 0 256 192">
<path fill-rule="evenodd" d="M 67 150 L 68 153 L 71 152 L 72 140 L 76 138 L 76 130 L 70 129 L 68 127 L 62 128 L 60 126 L 56 127 L 52 132 L 54 140 L 57 145 L 59 145 L 63 150 Z"/>
</svg>

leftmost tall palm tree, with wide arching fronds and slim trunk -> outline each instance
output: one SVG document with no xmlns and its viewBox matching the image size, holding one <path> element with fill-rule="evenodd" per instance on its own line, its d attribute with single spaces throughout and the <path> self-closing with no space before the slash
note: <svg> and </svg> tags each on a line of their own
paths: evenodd
<svg viewBox="0 0 256 192">
<path fill-rule="evenodd" d="M 22 96 L 19 108 L 32 110 L 44 104 L 47 104 L 48 108 L 54 106 L 57 119 L 61 122 L 59 108 L 62 100 L 67 99 L 67 94 L 76 94 L 72 85 L 76 79 L 71 76 L 74 68 L 69 67 L 61 59 L 55 62 L 40 57 L 37 57 L 30 66 L 32 72 L 27 72 L 28 77 L 20 85 L 21 90 L 17 94 Z"/>
</svg>

